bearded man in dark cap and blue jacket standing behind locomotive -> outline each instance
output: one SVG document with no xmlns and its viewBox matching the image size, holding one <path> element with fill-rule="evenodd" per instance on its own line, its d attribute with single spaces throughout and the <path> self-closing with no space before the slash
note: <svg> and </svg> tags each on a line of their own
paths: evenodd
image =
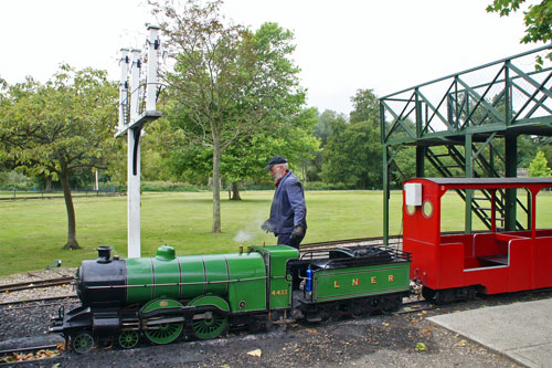
<svg viewBox="0 0 552 368">
<path fill-rule="evenodd" d="M 307 207 L 302 185 L 289 170 L 287 160 L 282 156 L 270 158 L 265 170 L 270 171 L 276 191 L 270 207 L 270 218 L 261 225 L 261 229 L 274 232 L 274 235 L 278 236 L 278 244 L 299 249 L 307 231 Z"/>
</svg>

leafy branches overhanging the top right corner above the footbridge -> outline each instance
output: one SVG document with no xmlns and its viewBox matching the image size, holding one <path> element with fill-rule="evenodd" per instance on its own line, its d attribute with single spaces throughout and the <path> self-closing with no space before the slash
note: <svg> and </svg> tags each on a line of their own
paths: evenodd
<svg viewBox="0 0 552 368">
<path fill-rule="evenodd" d="M 512 11 L 518 11 L 526 0 L 493 0 L 487 7 L 488 12 L 500 13 L 500 17 L 508 17 Z M 522 43 L 548 43 L 552 41 L 552 0 L 542 0 L 538 4 L 530 4 L 523 12 L 526 23 L 526 35 Z M 552 52 L 546 57 L 552 61 Z M 543 61 L 537 56 L 537 69 L 542 69 Z"/>
</svg>

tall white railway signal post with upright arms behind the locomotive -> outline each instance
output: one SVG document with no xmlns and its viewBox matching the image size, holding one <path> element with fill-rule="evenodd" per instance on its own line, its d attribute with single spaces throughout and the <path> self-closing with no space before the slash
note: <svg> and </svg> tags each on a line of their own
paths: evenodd
<svg viewBox="0 0 552 368">
<path fill-rule="evenodd" d="M 156 109 L 156 97 L 158 87 L 158 50 L 160 41 L 158 38 L 159 27 L 149 25 L 148 38 L 148 75 L 146 80 L 146 111 L 140 112 L 141 87 L 141 51 L 132 49 L 130 57 L 128 49 L 121 49 L 121 80 L 119 85 L 119 127 L 116 136 L 127 134 L 127 198 L 128 198 L 128 251 L 129 259 L 141 256 L 140 238 L 140 136 L 146 123 L 161 117 Z M 130 64 L 130 88 L 128 88 L 128 64 Z M 130 90 L 130 93 L 129 93 Z M 130 116 L 128 116 L 128 111 Z M 128 120 L 127 120 L 128 118 Z"/>
</svg>

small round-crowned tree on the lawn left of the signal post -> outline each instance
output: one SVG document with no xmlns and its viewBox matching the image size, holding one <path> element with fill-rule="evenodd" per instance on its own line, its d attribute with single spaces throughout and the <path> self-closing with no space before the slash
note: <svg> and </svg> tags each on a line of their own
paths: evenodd
<svg viewBox="0 0 552 368">
<path fill-rule="evenodd" d="M 78 249 L 70 178 L 83 168 L 105 168 L 114 145 L 117 87 L 105 71 L 62 65 L 44 85 L 28 78 L 10 86 L 7 96 L 3 150 L 20 169 L 60 179 L 67 210 L 64 249 Z"/>
</svg>

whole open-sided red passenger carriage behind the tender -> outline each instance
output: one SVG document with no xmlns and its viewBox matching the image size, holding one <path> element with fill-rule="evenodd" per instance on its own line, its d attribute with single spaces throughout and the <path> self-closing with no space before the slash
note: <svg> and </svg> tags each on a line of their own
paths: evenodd
<svg viewBox="0 0 552 368">
<path fill-rule="evenodd" d="M 552 287 L 552 229 L 537 229 L 537 196 L 552 178 L 434 178 L 407 180 L 403 187 L 403 250 L 413 253 L 411 278 L 426 298 L 442 302 Z M 502 198 L 507 190 L 528 192 L 521 230 L 503 231 Z M 444 194 L 456 190 L 486 214 L 489 231 L 442 232 Z M 486 194 L 482 208 L 474 192 Z M 516 197 L 514 197 L 516 198 Z M 502 201 L 502 202 L 501 202 Z M 516 204 L 514 202 L 514 206 Z M 469 210 L 469 209 L 468 209 Z"/>
</svg>

